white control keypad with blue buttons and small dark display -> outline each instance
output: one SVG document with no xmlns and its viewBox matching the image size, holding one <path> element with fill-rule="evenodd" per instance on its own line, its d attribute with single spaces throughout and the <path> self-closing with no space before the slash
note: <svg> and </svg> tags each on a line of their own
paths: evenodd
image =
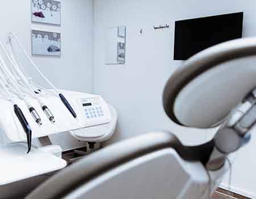
<svg viewBox="0 0 256 199">
<path fill-rule="evenodd" d="M 97 126 L 111 121 L 108 103 L 101 96 L 81 98 L 80 103 L 86 126 Z"/>
</svg>

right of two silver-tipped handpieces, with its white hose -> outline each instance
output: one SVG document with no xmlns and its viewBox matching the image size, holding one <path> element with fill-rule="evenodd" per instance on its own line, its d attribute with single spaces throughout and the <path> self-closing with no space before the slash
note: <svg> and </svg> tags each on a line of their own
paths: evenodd
<svg viewBox="0 0 256 199">
<path fill-rule="evenodd" d="M 9 38 L 10 39 L 10 38 Z M 14 56 L 14 49 L 13 49 L 13 45 L 11 45 L 11 40 L 10 40 L 10 46 L 11 46 L 11 50 L 12 53 L 10 53 L 10 57 L 9 54 L 6 52 L 5 49 L 3 49 L 3 51 L 5 51 L 7 58 L 9 59 L 11 66 L 13 67 L 13 69 L 16 71 L 16 73 L 18 73 L 19 77 L 21 80 L 23 80 L 24 84 L 27 86 L 28 90 L 30 90 L 32 96 L 34 96 L 37 101 L 40 103 L 40 106 L 42 108 L 42 110 L 44 111 L 44 113 L 46 114 L 47 118 L 49 119 L 49 121 L 51 121 L 52 123 L 55 123 L 55 117 L 53 116 L 52 112 L 48 109 L 48 107 L 44 104 L 44 102 L 42 101 L 42 99 L 40 99 L 35 93 L 34 90 L 32 89 L 30 83 L 28 82 L 28 79 L 26 77 L 26 73 L 24 73 L 24 71 L 22 72 L 22 70 L 20 70 L 19 64 L 21 65 L 19 60 L 16 60 L 15 56 Z M 31 109 L 30 111 L 34 111 L 34 109 Z M 31 112 L 32 114 L 32 112 Z"/>
</svg>

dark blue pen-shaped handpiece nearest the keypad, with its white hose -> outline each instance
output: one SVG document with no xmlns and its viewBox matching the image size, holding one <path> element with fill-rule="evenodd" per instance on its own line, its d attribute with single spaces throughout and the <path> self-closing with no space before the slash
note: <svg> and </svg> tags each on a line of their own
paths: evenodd
<svg viewBox="0 0 256 199">
<path fill-rule="evenodd" d="M 30 59 L 30 56 L 28 56 L 27 52 L 24 50 L 22 44 L 19 42 L 19 39 L 17 38 L 17 36 L 14 34 L 14 32 L 10 32 L 9 35 L 9 41 L 10 41 L 10 45 L 11 45 L 11 35 L 13 35 L 13 37 L 15 38 L 16 42 L 18 43 L 20 49 L 22 49 L 22 51 L 24 52 L 24 54 L 27 56 L 27 59 L 30 61 L 30 63 L 32 64 L 32 66 L 36 69 L 36 71 L 38 71 L 38 73 L 44 78 L 44 80 L 46 80 L 48 82 L 49 85 L 51 85 L 51 87 L 55 90 L 56 94 L 60 97 L 61 101 L 64 103 L 65 107 L 67 107 L 67 109 L 69 110 L 69 112 L 73 115 L 74 118 L 77 118 L 76 112 L 73 110 L 71 104 L 68 102 L 68 100 L 64 97 L 64 95 L 62 93 L 59 93 L 57 91 L 57 88 L 46 78 L 46 76 L 44 76 L 44 74 L 39 70 L 38 67 L 36 67 L 36 65 L 34 64 L 34 62 Z M 12 45 L 11 45 L 12 47 Z M 13 47 L 12 47 L 13 48 Z"/>
</svg>

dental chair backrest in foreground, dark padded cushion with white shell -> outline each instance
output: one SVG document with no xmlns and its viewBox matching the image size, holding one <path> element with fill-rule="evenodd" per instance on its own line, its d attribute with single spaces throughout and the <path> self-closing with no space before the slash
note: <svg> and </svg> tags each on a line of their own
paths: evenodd
<svg viewBox="0 0 256 199">
<path fill-rule="evenodd" d="M 191 151 L 170 133 L 148 133 L 85 157 L 51 177 L 27 199 L 187 198 L 184 187 L 197 194 L 198 185 L 203 190 L 208 185 L 203 164 L 181 158 L 193 160 Z"/>
</svg>

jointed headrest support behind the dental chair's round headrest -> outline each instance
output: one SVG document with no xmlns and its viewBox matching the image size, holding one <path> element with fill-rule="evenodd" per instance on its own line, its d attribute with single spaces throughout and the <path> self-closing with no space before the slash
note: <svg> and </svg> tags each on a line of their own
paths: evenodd
<svg viewBox="0 0 256 199">
<path fill-rule="evenodd" d="M 256 130 L 256 89 L 247 94 L 242 103 L 232 110 L 228 120 L 214 136 L 215 147 L 206 168 L 217 170 L 224 165 L 226 157 L 250 141 Z"/>
</svg>

